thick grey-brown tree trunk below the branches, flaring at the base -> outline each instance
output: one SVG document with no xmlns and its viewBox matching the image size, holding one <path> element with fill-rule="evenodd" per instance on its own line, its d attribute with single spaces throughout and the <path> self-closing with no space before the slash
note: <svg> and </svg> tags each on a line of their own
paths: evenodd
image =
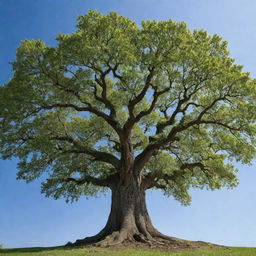
<svg viewBox="0 0 256 256">
<path fill-rule="evenodd" d="M 124 240 L 150 243 L 156 237 L 164 237 L 151 223 L 146 208 L 145 188 L 139 179 L 126 177 L 123 182 L 113 184 L 111 192 L 111 211 L 106 226 L 96 236 L 77 240 L 73 245 L 108 245 Z"/>
</svg>

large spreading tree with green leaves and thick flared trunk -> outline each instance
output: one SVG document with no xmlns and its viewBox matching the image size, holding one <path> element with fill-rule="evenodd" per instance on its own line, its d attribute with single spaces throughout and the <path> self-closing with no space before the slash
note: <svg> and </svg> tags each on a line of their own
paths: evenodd
<svg viewBox="0 0 256 256">
<path fill-rule="evenodd" d="M 168 239 L 152 225 L 145 191 L 183 204 L 190 187 L 238 184 L 235 161 L 255 157 L 255 81 L 227 43 L 185 23 L 90 11 L 56 46 L 25 40 L 0 87 L 0 152 L 18 178 L 76 200 L 112 193 L 106 226 L 78 240 Z"/>
</svg>

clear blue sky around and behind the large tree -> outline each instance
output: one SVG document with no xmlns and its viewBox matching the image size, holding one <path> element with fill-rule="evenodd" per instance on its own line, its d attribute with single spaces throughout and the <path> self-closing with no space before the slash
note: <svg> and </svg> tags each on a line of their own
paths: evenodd
<svg viewBox="0 0 256 256">
<path fill-rule="evenodd" d="M 217 33 L 229 42 L 236 62 L 256 74 L 256 1 L 253 0 L 0 0 L 0 84 L 11 77 L 15 49 L 23 39 L 54 44 L 74 31 L 76 17 L 89 9 L 145 19 L 185 21 L 191 29 Z M 256 170 L 238 165 L 234 190 L 191 190 L 184 207 L 149 192 L 153 223 L 171 236 L 232 246 L 256 246 Z M 4 247 L 61 245 L 98 232 L 110 209 L 109 195 L 66 204 L 40 194 L 40 181 L 16 180 L 16 160 L 0 161 L 0 243 Z"/>
</svg>

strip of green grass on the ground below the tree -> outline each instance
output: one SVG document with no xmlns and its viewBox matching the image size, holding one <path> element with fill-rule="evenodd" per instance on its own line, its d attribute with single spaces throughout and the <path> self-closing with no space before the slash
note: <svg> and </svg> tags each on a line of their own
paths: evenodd
<svg viewBox="0 0 256 256">
<path fill-rule="evenodd" d="M 150 249 L 104 249 L 104 248 L 76 248 L 35 247 L 21 249 L 1 249 L 0 256 L 256 256 L 256 248 L 215 247 L 198 250 L 166 252 Z"/>
</svg>

